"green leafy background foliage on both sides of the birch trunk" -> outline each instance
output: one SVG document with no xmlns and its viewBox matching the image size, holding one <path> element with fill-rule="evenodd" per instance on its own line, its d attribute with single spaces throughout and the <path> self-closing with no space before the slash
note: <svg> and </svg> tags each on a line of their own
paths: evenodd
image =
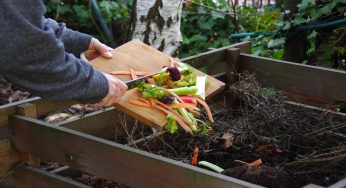
<svg viewBox="0 0 346 188">
<path fill-rule="evenodd" d="M 346 15 L 344 0 L 319 0 L 318 3 L 317 0 L 302 0 L 294 19 L 285 22 L 282 21 L 284 14 L 278 4 L 260 6 L 260 1 L 254 0 L 246 6 L 239 4 L 233 7 L 229 2 L 235 1 L 194 0 L 183 8 L 181 31 L 184 40 L 180 57 L 239 42 L 230 40 L 232 33 L 273 32 L 275 35 L 270 37 L 259 36 L 241 40 L 251 40 L 252 53 L 256 55 L 283 59 L 285 33 L 290 32 L 292 27 L 332 19 L 335 16 L 345 18 Z M 122 44 L 129 27 L 132 0 L 99 0 L 97 3 L 114 39 L 118 44 Z M 46 0 L 45 4 L 47 17 L 65 22 L 69 27 L 92 34 L 107 43 L 91 10 L 90 0 Z M 331 32 L 327 37 L 314 30 L 307 32 L 310 45 L 306 53 L 318 53 L 320 65 L 331 67 L 331 56 L 335 52 L 345 54 L 345 46 L 334 45 L 338 39 L 335 32 Z M 345 32 L 345 28 L 338 32 Z M 323 37 L 324 40 L 318 47 L 315 46 L 316 37 Z"/>
</svg>

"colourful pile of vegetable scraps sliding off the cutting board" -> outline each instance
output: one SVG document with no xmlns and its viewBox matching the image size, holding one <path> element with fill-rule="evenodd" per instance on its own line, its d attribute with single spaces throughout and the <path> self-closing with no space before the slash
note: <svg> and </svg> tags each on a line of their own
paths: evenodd
<svg viewBox="0 0 346 188">
<path fill-rule="evenodd" d="M 136 73 L 132 69 L 129 72 Z M 130 99 L 128 102 L 164 113 L 167 119 L 165 129 L 169 133 L 177 133 L 179 126 L 190 134 L 208 134 L 212 130 L 208 122 L 198 119 L 200 104 L 210 122 L 214 122 L 211 110 L 204 101 L 206 76 L 197 76 L 186 64 L 171 59 L 169 67 L 164 67 L 160 73 L 138 83 L 136 88 L 142 98 Z"/>
</svg>

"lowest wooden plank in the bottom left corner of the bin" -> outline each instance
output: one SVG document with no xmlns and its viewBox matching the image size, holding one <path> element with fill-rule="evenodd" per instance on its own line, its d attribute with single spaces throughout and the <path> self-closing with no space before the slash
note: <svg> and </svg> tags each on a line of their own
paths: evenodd
<svg viewBox="0 0 346 188">
<path fill-rule="evenodd" d="M 19 167 L 11 176 L 0 182 L 0 187 L 20 188 L 91 188 L 79 182 L 51 174 L 33 167 Z"/>
</svg>

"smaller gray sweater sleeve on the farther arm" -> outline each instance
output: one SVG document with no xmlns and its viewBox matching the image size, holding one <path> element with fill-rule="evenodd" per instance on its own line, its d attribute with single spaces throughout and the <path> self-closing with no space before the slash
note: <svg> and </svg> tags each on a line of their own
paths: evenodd
<svg viewBox="0 0 346 188">
<path fill-rule="evenodd" d="M 55 36 L 64 43 L 65 51 L 79 56 L 87 50 L 91 41 L 91 36 L 73 31 L 66 27 L 64 23 L 57 23 L 50 18 L 45 19 L 44 24 L 54 30 Z"/>
</svg>

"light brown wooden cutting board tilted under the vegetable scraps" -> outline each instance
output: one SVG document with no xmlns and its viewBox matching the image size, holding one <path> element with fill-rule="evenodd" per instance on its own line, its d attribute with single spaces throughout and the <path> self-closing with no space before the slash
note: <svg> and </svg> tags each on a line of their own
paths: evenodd
<svg viewBox="0 0 346 188">
<path fill-rule="evenodd" d="M 155 48 L 152 48 L 138 40 L 130 41 L 111 51 L 113 58 L 106 59 L 103 57 L 96 58 L 91 61 L 93 67 L 99 71 L 109 73 L 111 71 L 128 71 L 130 68 L 137 71 L 158 72 L 163 66 L 168 66 L 170 57 Z M 197 75 L 206 75 L 203 72 L 193 69 Z M 128 81 L 131 79 L 129 75 L 117 75 L 117 78 Z M 206 98 L 220 92 L 225 84 L 211 76 L 207 77 L 209 82 L 206 88 Z M 136 89 L 131 89 L 126 92 L 122 101 L 116 104 L 118 110 L 136 118 L 144 124 L 153 127 L 157 130 L 162 130 L 167 123 L 165 115 L 154 109 L 139 107 L 129 104 L 129 99 L 136 99 L 140 96 Z"/>
</svg>

